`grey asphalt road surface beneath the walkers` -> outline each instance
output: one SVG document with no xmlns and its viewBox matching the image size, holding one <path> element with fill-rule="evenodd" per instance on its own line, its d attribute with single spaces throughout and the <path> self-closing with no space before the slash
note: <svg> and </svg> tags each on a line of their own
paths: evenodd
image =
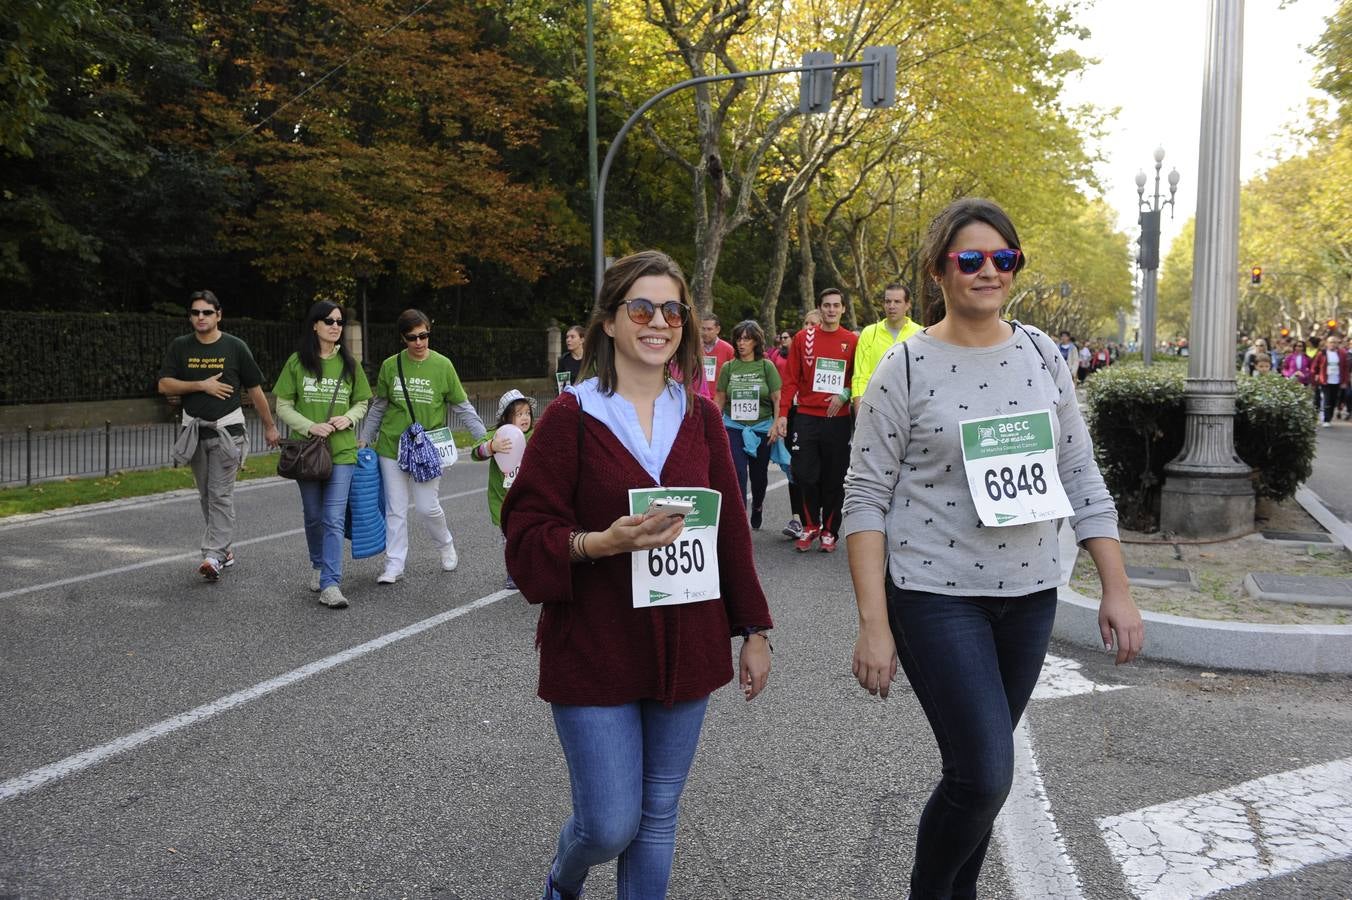
<svg viewBox="0 0 1352 900">
<path fill-rule="evenodd" d="M 0 897 L 538 897 L 566 772 L 485 474 L 442 480 L 457 572 L 415 528 L 408 580 L 349 564 L 346 611 L 306 589 L 289 482 L 239 485 L 215 585 L 195 496 L 0 526 Z M 775 489 L 775 672 L 710 704 L 671 896 L 904 896 L 933 738 L 904 682 L 853 682 L 845 553 L 784 518 Z M 1352 680 L 1052 653 L 983 897 L 1352 896 Z M 1142 831 L 1175 850 L 1124 850 Z"/>
</svg>

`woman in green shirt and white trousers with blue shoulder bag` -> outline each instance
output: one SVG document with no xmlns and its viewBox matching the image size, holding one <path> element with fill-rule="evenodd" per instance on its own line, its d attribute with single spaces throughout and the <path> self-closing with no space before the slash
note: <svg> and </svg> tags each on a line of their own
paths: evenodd
<svg viewBox="0 0 1352 900">
<path fill-rule="evenodd" d="M 361 428 L 362 446 L 373 443 L 380 457 L 380 482 L 385 489 L 385 569 L 376 578 L 377 584 L 393 584 L 404 577 L 410 497 L 427 536 L 437 545 L 442 572 L 453 572 L 460 564 L 456 542 L 446 527 L 446 512 L 437 496 L 441 478 L 414 481 L 399 468 L 399 435 L 415 418 L 425 431 L 441 428 L 449 420 L 448 408 L 469 427 L 475 441 L 488 434 L 465 396 L 456 366 L 431 349 L 431 319 L 419 309 L 404 309 L 395 324 L 406 349 L 380 364 L 376 399 Z"/>
</svg>

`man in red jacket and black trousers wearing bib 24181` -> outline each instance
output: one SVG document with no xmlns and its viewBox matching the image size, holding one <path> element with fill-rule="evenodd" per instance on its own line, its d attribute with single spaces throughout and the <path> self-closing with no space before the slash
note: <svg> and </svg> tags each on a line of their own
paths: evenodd
<svg viewBox="0 0 1352 900">
<path fill-rule="evenodd" d="M 796 335 L 788 351 L 788 374 L 779 392 L 779 418 L 773 435 L 790 438 L 794 481 L 803 496 L 803 536 L 794 542 L 799 553 L 822 541 L 822 553 L 836 550 L 836 532 L 845 500 L 845 470 L 849 468 L 852 430 L 849 384 L 854 374 L 854 345 L 859 335 L 841 327 L 845 300 L 836 288 L 817 297 L 822 326 L 808 326 Z M 794 434 L 788 435 L 788 408 L 798 397 Z"/>
</svg>

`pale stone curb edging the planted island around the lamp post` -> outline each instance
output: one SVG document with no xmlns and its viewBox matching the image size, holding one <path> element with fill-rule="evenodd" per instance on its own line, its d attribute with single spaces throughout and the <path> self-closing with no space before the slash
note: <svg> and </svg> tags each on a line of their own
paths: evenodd
<svg viewBox="0 0 1352 900">
<path fill-rule="evenodd" d="M 1344 534 L 1352 532 L 1320 503 L 1318 497 L 1303 488 L 1302 492 L 1297 493 L 1297 500 L 1320 524 L 1328 527 L 1325 524 L 1328 518 L 1341 527 L 1341 531 L 1330 528 L 1334 538 L 1343 541 Z M 1310 504 L 1314 504 L 1318 512 Z M 1079 555 L 1075 532 L 1069 524 L 1061 527 L 1060 541 L 1063 586 L 1056 592 L 1056 622 L 1052 626 L 1052 636 L 1102 651 L 1098 600 L 1086 597 L 1064 584 L 1069 581 Z M 1141 611 L 1141 618 L 1145 620 L 1145 649 L 1141 651 L 1141 658 L 1145 659 L 1182 662 L 1207 669 L 1352 674 L 1352 626 L 1249 624 L 1190 619 L 1145 609 Z"/>
</svg>

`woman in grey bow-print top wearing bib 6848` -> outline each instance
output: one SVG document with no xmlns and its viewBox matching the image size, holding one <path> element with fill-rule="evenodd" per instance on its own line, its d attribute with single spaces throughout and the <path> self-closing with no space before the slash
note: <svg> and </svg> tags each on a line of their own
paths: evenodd
<svg viewBox="0 0 1352 900">
<path fill-rule="evenodd" d="M 921 264 L 944 319 L 884 354 L 845 480 L 854 676 L 886 697 L 900 662 L 944 758 L 919 822 L 917 899 L 976 896 L 1051 639 L 1060 519 L 1103 582 L 1105 647 L 1128 662 L 1144 641 L 1069 368 L 1049 336 L 1000 318 L 1025 262 L 990 200 L 934 219 Z"/>
</svg>

